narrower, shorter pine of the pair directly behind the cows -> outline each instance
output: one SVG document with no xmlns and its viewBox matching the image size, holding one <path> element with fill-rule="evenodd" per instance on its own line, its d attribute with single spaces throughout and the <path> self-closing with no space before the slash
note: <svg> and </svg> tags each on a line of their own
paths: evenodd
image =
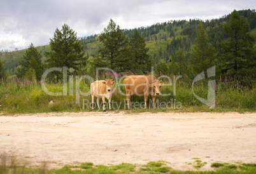
<svg viewBox="0 0 256 174">
<path fill-rule="evenodd" d="M 129 41 L 131 46 L 131 58 L 134 70 L 149 71 L 152 65 L 148 55 L 149 48 L 146 47 L 145 39 L 138 30 L 135 29 Z"/>
</svg>

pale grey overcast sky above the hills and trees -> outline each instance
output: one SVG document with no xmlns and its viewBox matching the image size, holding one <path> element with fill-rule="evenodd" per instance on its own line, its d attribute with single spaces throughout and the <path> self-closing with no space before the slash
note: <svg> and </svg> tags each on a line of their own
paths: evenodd
<svg viewBox="0 0 256 174">
<path fill-rule="evenodd" d="M 48 44 L 64 23 L 83 37 L 99 34 L 110 18 L 121 29 L 133 29 L 168 20 L 218 18 L 233 10 L 255 8 L 255 0 L 3 0 L 0 51 Z"/>
</svg>

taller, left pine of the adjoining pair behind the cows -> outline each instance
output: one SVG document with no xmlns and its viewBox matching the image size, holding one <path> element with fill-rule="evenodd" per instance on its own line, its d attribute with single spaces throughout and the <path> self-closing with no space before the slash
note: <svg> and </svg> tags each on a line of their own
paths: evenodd
<svg viewBox="0 0 256 174">
<path fill-rule="evenodd" d="M 131 64 L 129 64 L 131 58 L 127 57 L 127 53 L 129 53 L 128 38 L 112 19 L 110 19 L 108 27 L 104 28 L 99 35 L 99 42 L 101 46 L 98 50 L 98 61 L 119 72 L 131 68 Z"/>
</svg>

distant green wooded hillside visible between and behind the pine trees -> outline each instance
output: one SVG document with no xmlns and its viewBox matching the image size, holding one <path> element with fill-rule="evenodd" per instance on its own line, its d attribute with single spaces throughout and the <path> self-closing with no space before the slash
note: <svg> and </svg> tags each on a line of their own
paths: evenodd
<svg viewBox="0 0 256 174">
<path fill-rule="evenodd" d="M 255 10 L 241 10 L 238 11 L 239 14 L 247 18 L 250 23 L 250 28 L 253 34 L 256 34 L 256 13 Z M 229 21 L 229 15 L 218 19 L 206 20 L 203 22 L 203 27 L 209 36 L 210 43 L 215 47 L 215 51 L 218 51 L 218 42 L 227 38 L 222 26 L 224 22 Z M 185 52 L 185 61 L 189 57 L 189 51 L 192 45 L 195 43 L 197 25 L 199 20 L 171 20 L 164 23 L 155 23 L 150 27 L 139 27 L 138 31 L 146 40 L 146 46 L 149 48 L 149 55 L 152 59 L 153 64 L 157 64 L 160 61 L 163 62 L 176 62 L 176 51 L 178 48 L 182 48 Z M 118 23 L 117 23 L 118 25 Z M 131 37 L 134 29 L 124 29 L 123 32 Z M 99 47 L 99 39 L 97 35 L 81 37 L 79 38 L 82 42 L 86 54 L 89 56 L 97 53 L 97 48 Z M 41 53 L 43 60 L 45 57 L 43 55 L 44 51 L 50 51 L 50 45 L 38 46 L 36 47 Z M 15 74 L 15 70 L 19 65 L 19 60 L 25 54 L 25 50 L 11 51 L 11 52 L 0 52 L 0 59 L 4 63 L 4 70 L 6 70 L 8 76 Z M 89 58 L 91 60 L 92 57 Z M 90 66 L 90 65 L 89 65 Z M 87 66 L 88 67 L 88 66 Z"/>
</svg>

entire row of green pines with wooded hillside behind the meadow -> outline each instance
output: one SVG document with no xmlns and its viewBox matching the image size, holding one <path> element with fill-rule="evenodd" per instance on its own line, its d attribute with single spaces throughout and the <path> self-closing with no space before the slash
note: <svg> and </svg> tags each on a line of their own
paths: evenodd
<svg viewBox="0 0 256 174">
<path fill-rule="evenodd" d="M 241 13 L 245 13 L 248 18 Z M 61 30 L 55 30 L 50 39 L 52 51 L 45 51 L 46 62 L 42 62 L 41 54 L 31 43 L 20 61 L 17 76 L 28 76 L 32 71 L 39 79 L 44 69 L 63 66 L 74 69 L 73 73 L 76 74 L 85 70 L 94 72 L 97 67 L 146 74 L 152 65 L 156 73 L 183 74 L 188 77 L 206 72 L 213 65 L 217 66 L 218 75 L 255 76 L 255 36 L 250 33 L 255 27 L 255 14 L 255 10 L 234 10 L 218 20 L 171 21 L 133 30 L 121 30 L 110 20 L 99 36 L 86 38 L 78 38 L 75 31 L 64 24 Z M 166 32 L 160 34 L 160 30 Z M 157 44 L 158 40 L 168 37 L 172 39 L 166 49 L 158 47 L 157 52 L 150 57 L 146 41 L 152 39 Z M 89 58 L 90 55 L 85 53 L 85 45 L 96 40 L 100 43 L 97 53 Z M 52 75 L 61 78 L 60 72 Z"/>
</svg>

